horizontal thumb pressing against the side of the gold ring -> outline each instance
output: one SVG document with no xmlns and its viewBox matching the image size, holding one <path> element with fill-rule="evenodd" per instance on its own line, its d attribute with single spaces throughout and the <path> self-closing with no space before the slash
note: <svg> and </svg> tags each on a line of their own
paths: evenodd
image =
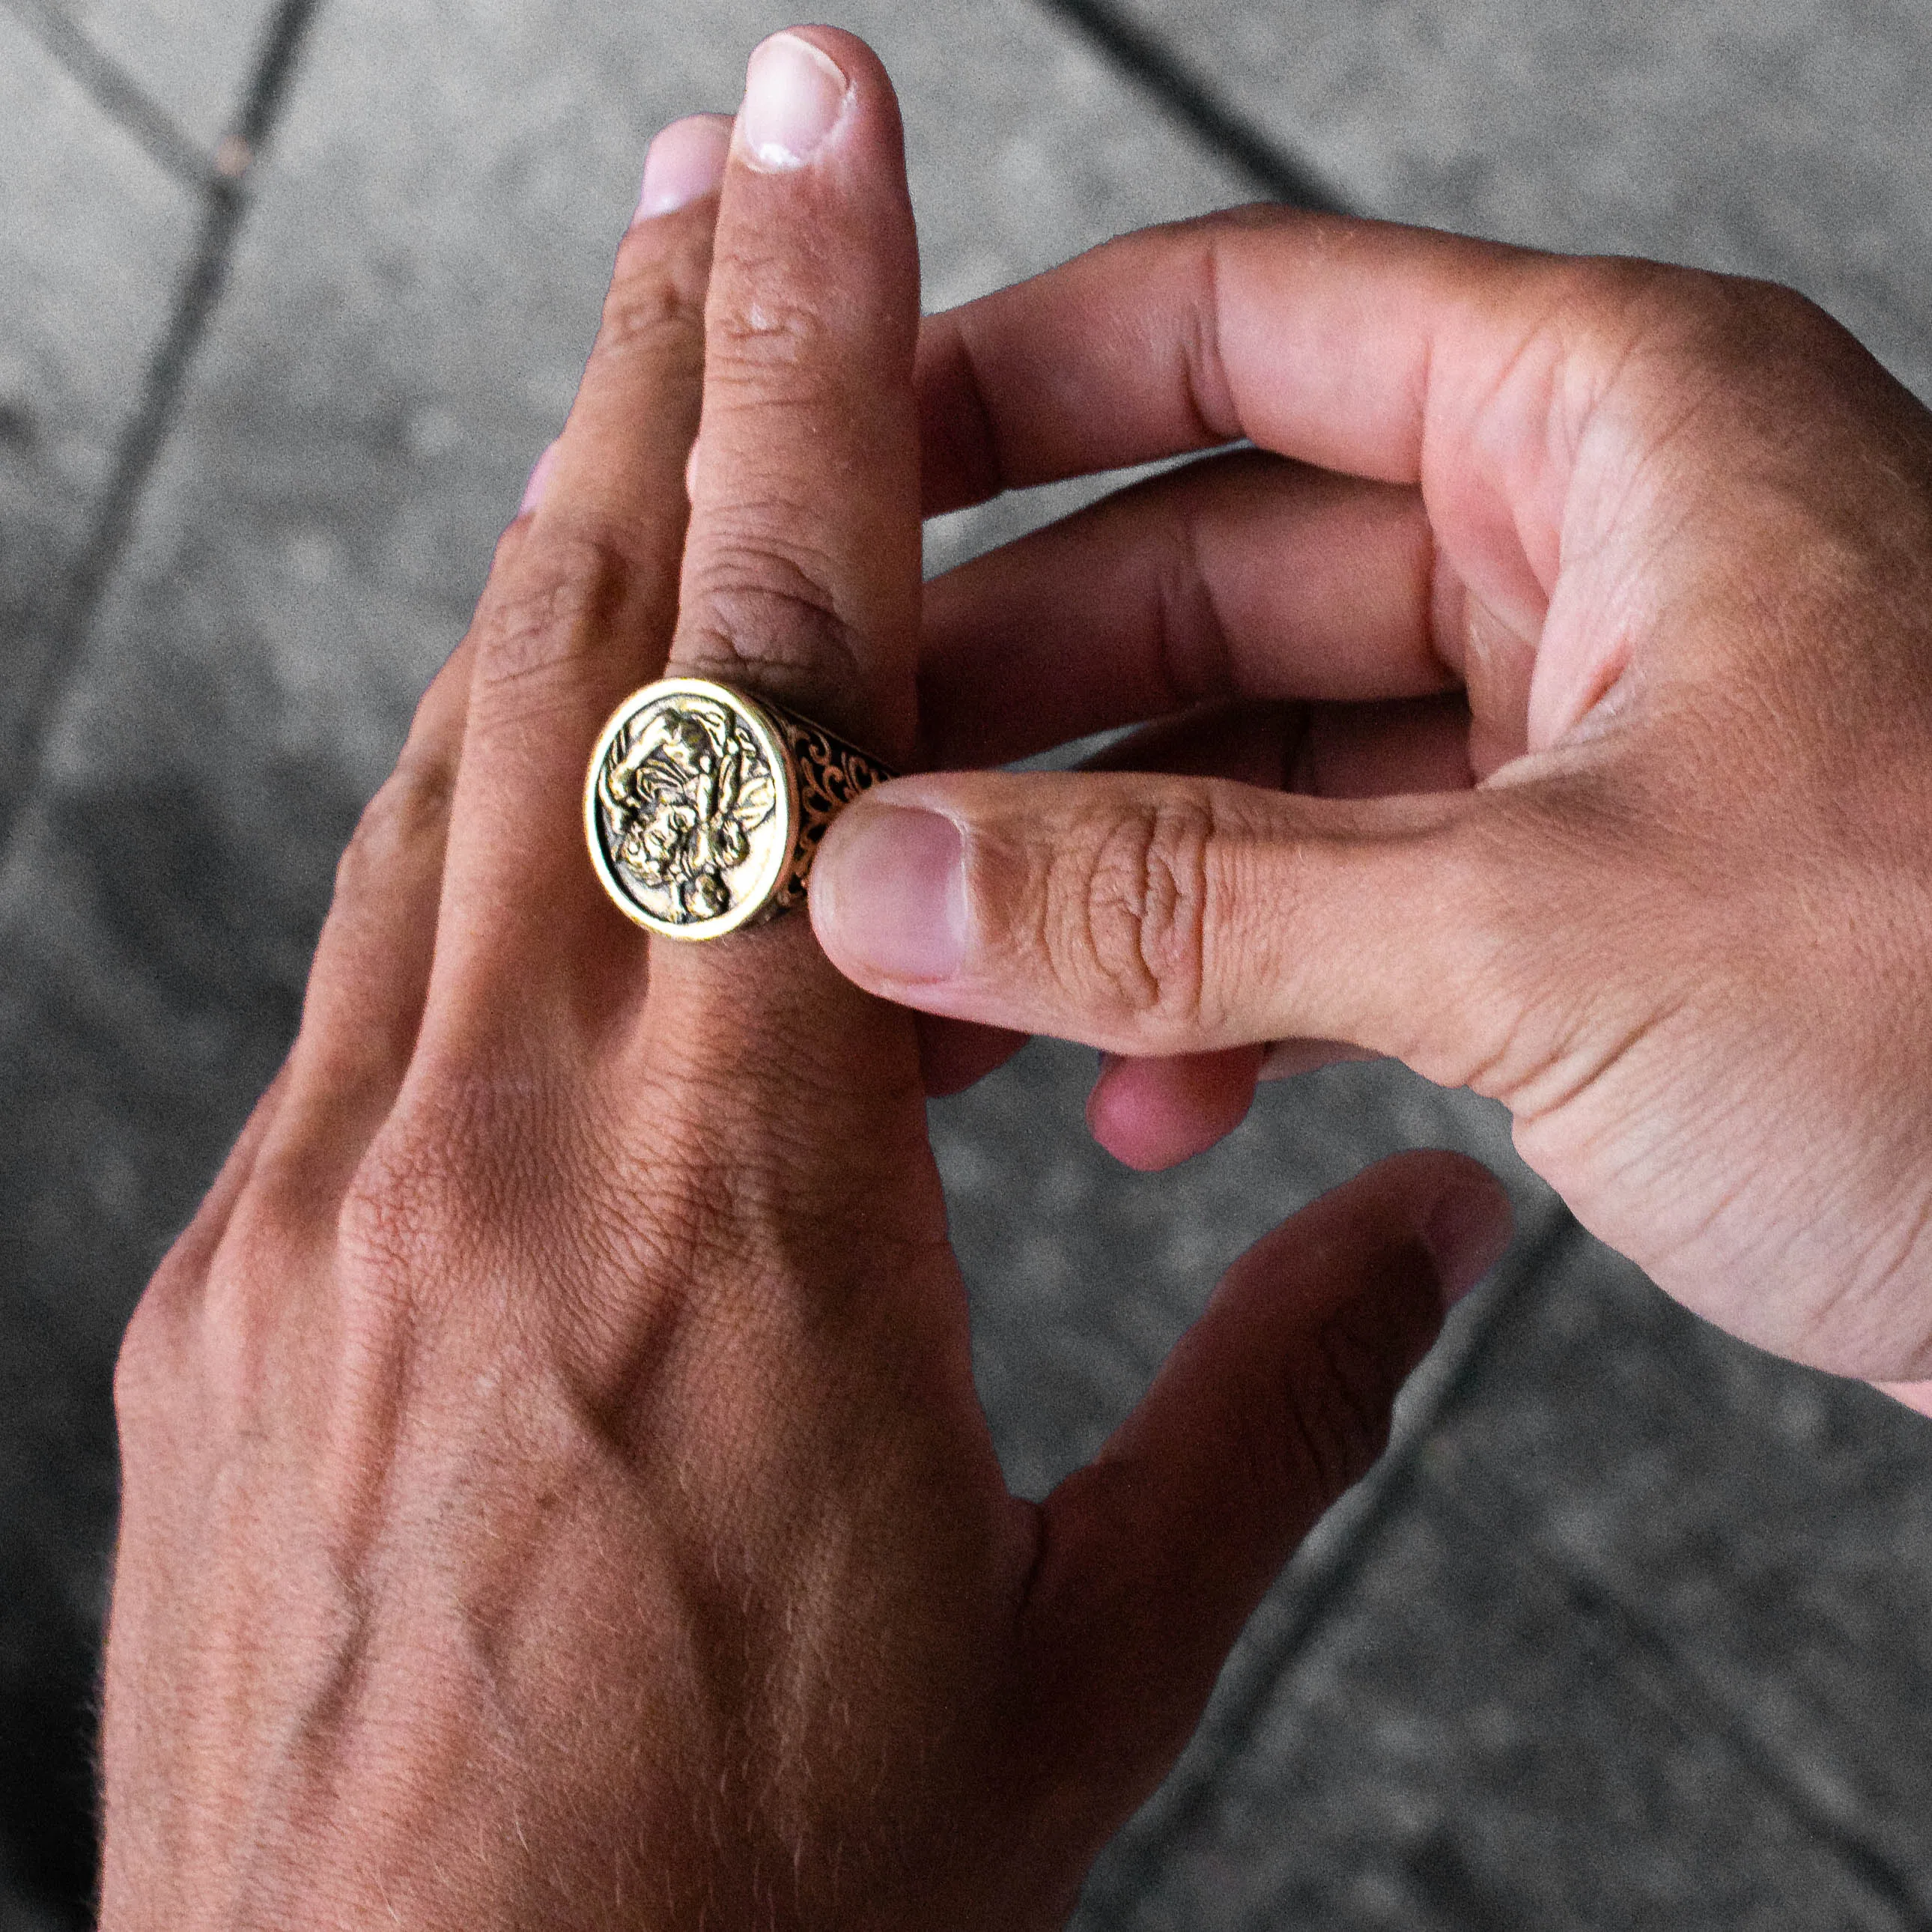
<svg viewBox="0 0 1932 1932">
<path fill-rule="evenodd" d="M 1461 1086 L 1509 1037 L 1482 794 L 935 773 L 840 813 L 811 923 L 925 1012 L 1132 1057 L 1337 1039 Z"/>
</svg>

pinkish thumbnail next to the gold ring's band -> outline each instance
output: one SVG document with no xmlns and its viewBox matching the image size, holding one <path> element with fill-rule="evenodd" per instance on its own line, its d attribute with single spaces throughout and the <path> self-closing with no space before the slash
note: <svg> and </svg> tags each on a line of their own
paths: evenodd
<svg viewBox="0 0 1932 1932">
<path fill-rule="evenodd" d="M 966 844 L 937 811 L 862 806 L 811 877 L 838 956 L 881 980 L 947 980 L 966 954 Z M 827 864 L 831 860 L 831 864 Z"/>
</svg>

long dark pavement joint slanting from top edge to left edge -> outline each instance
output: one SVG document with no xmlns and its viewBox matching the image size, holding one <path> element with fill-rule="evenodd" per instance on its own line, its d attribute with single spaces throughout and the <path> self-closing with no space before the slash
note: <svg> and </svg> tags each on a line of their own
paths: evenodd
<svg viewBox="0 0 1932 1932">
<path fill-rule="evenodd" d="M 21 0 L 0 4 L 17 10 Z M 44 0 L 29 4 L 41 8 Z M 93 531 L 56 607 L 50 645 L 19 694 L 19 757 L 12 782 L 0 777 L 0 858 L 12 858 L 27 806 L 41 792 L 54 721 L 79 674 L 95 612 L 128 551 L 149 477 L 185 394 L 187 373 L 228 286 L 236 234 L 249 207 L 249 170 L 274 129 L 303 35 L 319 8 L 321 0 L 280 0 L 249 73 L 234 129 L 201 170 L 201 232 L 176 288 L 160 344 L 149 359 L 141 402 L 114 452 L 114 469 L 100 495 Z"/>
</svg>

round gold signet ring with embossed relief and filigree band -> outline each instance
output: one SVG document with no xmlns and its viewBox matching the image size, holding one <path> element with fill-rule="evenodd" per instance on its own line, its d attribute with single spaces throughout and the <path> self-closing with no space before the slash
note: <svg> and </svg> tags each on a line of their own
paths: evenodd
<svg viewBox="0 0 1932 1932">
<path fill-rule="evenodd" d="M 599 734 L 583 833 L 626 920 L 665 939 L 719 939 L 802 906 L 825 827 L 891 777 L 769 697 L 661 678 Z"/>
</svg>

